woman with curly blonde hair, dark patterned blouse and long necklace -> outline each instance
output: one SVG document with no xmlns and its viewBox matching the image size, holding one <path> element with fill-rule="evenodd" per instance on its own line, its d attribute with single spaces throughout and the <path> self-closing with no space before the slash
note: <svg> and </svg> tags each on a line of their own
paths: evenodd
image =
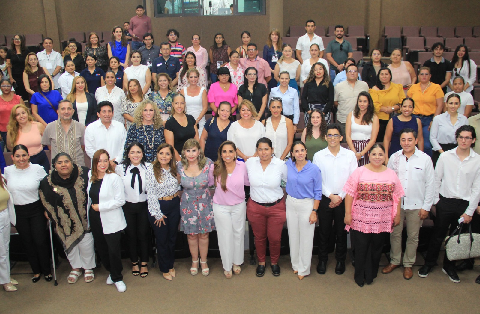
<svg viewBox="0 0 480 314">
<path fill-rule="evenodd" d="M 127 157 L 127 148 L 138 142 L 144 146 L 146 161 L 152 163 L 156 158 L 156 149 L 165 143 L 163 121 L 156 104 L 151 100 L 144 100 L 135 109 L 135 118 L 127 133 L 124 157 Z"/>
</svg>

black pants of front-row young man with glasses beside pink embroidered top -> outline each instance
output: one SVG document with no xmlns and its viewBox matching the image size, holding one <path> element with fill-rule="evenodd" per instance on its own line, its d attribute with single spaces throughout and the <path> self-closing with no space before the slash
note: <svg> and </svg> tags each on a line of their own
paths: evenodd
<svg viewBox="0 0 480 314">
<path fill-rule="evenodd" d="M 335 208 L 329 208 L 330 198 L 322 196 L 318 209 L 318 224 L 320 241 L 318 242 L 318 259 L 326 262 L 328 260 L 328 239 L 332 231 L 332 221 L 335 225 L 336 248 L 335 258 L 337 262 L 345 262 L 347 257 L 347 232 L 345 231 L 345 199 Z"/>
</svg>

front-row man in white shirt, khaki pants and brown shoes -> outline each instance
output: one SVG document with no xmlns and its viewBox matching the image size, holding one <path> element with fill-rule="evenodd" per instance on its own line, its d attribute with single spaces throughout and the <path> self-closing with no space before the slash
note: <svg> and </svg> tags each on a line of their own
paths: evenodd
<svg viewBox="0 0 480 314">
<path fill-rule="evenodd" d="M 400 224 L 390 235 L 390 263 L 382 269 L 382 273 L 391 273 L 400 266 L 402 257 L 403 221 L 407 220 L 407 246 L 403 256 L 403 278 L 413 276 L 412 266 L 417 257 L 420 227 L 427 219 L 433 204 L 435 193 L 432 159 L 429 155 L 415 147 L 417 132 L 404 128 L 400 133 L 402 150 L 395 152 L 388 161 L 387 167 L 394 170 L 402 183 L 405 197 L 401 200 Z"/>
</svg>

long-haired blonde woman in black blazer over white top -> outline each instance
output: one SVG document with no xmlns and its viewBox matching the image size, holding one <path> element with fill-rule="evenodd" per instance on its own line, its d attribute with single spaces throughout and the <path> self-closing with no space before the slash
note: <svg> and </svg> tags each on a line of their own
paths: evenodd
<svg viewBox="0 0 480 314">
<path fill-rule="evenodd" d="M 96 121 L 96 98 L 94 94 L 88 93 L 87 81 L 83 76 L 73 78 L 72 90 L 65 99 L 73 105 L 73 120 L 84 124 L 85 127 Z"/>
</svg>

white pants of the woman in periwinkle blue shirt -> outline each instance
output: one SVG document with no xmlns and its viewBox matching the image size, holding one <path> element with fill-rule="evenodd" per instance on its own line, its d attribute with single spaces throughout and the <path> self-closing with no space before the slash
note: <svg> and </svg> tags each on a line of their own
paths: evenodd
<svg viewBox="0 0 480 314">
<path fill-rule="evenodd" d="M 292 268 L 297 270 L 300 276 L 310 275 L 313 234 L 315 233 L 315 224 L 309 222 L 313 209 L 313 198 L 299 199 L 288 195 L 285 207 Z"/>
</svg>

